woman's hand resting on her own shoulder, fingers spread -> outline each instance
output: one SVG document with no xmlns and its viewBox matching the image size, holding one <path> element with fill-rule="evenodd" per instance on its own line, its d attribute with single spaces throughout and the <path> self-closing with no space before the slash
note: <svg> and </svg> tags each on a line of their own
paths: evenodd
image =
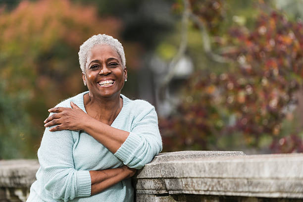
<svg viewBox="0 0 303 202">
<path fill-rule="evenodd" d="M 89 121 L 91 117 L 74 102 L 71 101 L 70 105 L 72 108 L 54 107 L 49 109 L 49 112 L 54 114 L 44 121 L 44 127 L 55 126 L 50 129 L 51 132 L 61 130 L 82 130 L 83 123 Z"/>
</svg>

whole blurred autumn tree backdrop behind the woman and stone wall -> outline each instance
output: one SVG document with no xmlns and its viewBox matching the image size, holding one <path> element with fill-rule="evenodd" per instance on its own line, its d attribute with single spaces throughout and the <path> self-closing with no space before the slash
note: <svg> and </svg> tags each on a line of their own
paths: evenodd
<svg viewBox="0 0 303 202">
<path fill-rule="evenodd" d="M 0 159 L 37 157 L 99 33 L 123 44 L 122 94 L 156 107 L 163 152 L 303 152 L 302 19 L 303 0 L 0 0 Z"/>
</svg>

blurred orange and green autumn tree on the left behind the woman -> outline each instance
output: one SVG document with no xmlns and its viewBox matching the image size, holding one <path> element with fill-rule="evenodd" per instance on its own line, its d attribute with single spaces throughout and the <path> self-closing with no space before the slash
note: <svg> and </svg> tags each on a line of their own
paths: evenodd
<svg viewBox="0 0 303 202">
<path fill-rule="evenodd" d="M 96 33 L 119 38 L 120 27 L 68 0 L 22 1 L 1 11 L 0 158 L 35 155 L 47 109 L 85 90 L 79 46 Z"/>
</svg>

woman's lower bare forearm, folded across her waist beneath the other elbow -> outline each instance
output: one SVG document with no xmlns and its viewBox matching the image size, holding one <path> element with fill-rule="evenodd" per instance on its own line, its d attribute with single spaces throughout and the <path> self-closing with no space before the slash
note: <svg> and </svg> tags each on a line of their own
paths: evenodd
<svg viewBox="0 0 303 202">
<path fill-rule="evenodd" d="M 114 184 L 132 177 L 135 172 L 135 169 L 128 168 L 127 166 L 107 170 L 91 170 L 91 195 L 98 194 Z"/>
</svg>

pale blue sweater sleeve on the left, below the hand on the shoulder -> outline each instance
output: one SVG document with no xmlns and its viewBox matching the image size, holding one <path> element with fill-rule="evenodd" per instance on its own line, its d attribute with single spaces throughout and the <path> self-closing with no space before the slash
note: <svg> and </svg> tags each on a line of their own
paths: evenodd
<svg viewBox="0 0 303 202">
<path fill-rule="evenodd" d="M 91 195 L 91 176 L 87 170 L 75 170 L 74 140 L 69 130 L 50 132 L 46 128 L 38 151 L 44 188 L 53 199 L 64 202 Z"/>
</svg>

